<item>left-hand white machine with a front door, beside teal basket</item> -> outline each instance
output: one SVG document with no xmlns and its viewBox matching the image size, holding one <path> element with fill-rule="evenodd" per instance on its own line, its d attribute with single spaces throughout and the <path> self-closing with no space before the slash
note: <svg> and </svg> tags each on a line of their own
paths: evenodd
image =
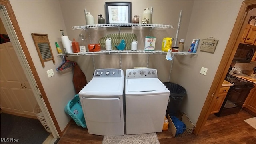
<svg viewBox="0 0 256 144">
<path fill-rule="evenodd" d="M 89 134 L 124 135 L 124 71 L 97 69 L 79 92 Z"/>
</svg>

